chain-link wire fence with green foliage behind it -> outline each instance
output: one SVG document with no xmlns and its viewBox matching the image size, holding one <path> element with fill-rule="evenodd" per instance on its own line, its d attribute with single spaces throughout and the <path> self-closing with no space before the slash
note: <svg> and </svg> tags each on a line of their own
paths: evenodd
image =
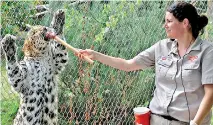
<svg viewBox="0 0 213 125">
<path fill-rule="evenodd" d="M 173 1 L 1 1 L 1 36 L 17 37 L 18 60 L 27 33 L 26 24 L 49 26 L 53 13 L 64 9 L 64 35 L 70 45 L 122 57 L 139 52 L 166 37 L 162 25 L 166 7 Z M 189 1 L 210 21 L 203 38 L 213 40 L 212 1 Z M 2 53 L 2 50 L 1 50 Z M 1 123 L 12 124 L 19 96 L 8 83 L 1 54 Z M 154 90 L 154 70 L 124 72 L 98 62 L 69 61 L 59 75 L 58 123 L 133 124 L 133 108 L 147 106 Z"/>
</svg>

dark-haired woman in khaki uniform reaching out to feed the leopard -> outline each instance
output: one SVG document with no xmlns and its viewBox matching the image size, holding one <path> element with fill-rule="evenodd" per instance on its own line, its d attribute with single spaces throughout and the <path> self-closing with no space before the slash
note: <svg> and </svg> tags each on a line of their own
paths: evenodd
<svg viewBox="0 0 213 125">
<path fill-rule="evenodd" d="M 210 125 L 213 104 L 213 45 L 198 35 L 208 24 L 195 7 L 173 3 L 166 11 L 161 40 L 133 59 L 116 58 L 93 50 L 81 50 L 111 67 L 134 71 L 155 66 L 156 89 L 149 105 L 151 125 Z"/>
</svg>

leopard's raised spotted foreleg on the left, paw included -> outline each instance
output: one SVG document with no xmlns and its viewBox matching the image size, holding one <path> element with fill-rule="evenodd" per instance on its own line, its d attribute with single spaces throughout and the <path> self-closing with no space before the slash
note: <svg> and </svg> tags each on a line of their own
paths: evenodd
<svg viewBox="0 0 213 125">
<path fill-rule="evenodd" d="M 12 35 L 5 35 L 1 40 L 2 49 L 6 57 L 6 68 L 8 73 L 9 83 L 17 92 L 26 92 L 24 85 L 27 77 L 27 67 L 25 63 L 19 64 L 17 62 L 17 47 L 15 44 L 16 37 Z"/>
</svg>

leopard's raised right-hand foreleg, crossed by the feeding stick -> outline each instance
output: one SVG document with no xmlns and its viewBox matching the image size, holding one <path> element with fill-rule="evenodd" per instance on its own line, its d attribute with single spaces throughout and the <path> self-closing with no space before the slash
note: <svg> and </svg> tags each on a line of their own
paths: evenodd
<svg viewBox="0 0 213 125">
<path fill-rule="evenodd" d="M 65 12 L 63 10 L 58 10 L 53 16 L 50 27 L 52 27 L 55 30 L 57 36 L 59 36 L 61 39 L 64 39 L 63 37 L 64 23 L 65 23 Z M 66 47 L 64 47 L 62 44 L 56 41 L 52 43 L 52 48 L 53 48 L 54 65 L 56 67 L 55 73 L 58 74 L 67 63 L 68 53 L 66 51 Z"/>
</svg>

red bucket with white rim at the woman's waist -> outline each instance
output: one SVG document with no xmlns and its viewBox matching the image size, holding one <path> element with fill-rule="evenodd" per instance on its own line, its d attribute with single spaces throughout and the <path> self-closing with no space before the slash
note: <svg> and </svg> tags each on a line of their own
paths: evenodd
<svg viewBox="0 0 213 125">
<path fill-rule="evenodd" d="M 136 107 L 133 109 L 135 125 L 150 125 L 150 109 L 146 107 Z"/>
</svg>

